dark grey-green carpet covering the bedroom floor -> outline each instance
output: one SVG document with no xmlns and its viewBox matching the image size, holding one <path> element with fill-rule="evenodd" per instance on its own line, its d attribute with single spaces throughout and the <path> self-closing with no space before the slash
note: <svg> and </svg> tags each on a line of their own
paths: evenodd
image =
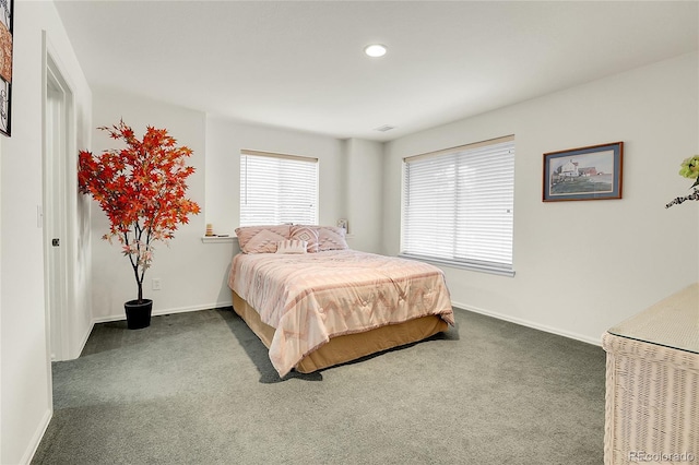
<svg viewBox="0 0 699 465">
<path fill-rule="evenodd" d="M 95 326 L 54 365 L 33 464 L 601 464 L 602 348 L 455 310 L 458 327 L 280 380 L 230 310 Z"/>
</svg>

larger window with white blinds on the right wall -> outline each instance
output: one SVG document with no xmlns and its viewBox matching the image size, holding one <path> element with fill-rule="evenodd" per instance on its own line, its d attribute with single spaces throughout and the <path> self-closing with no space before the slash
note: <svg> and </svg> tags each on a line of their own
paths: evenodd
<svg viewBox="0 0 699 465">
<path fill-rule="evenodd" d="M 404 159 L 402 251 L 513 275 L 514 136 Z"/>
</svg>

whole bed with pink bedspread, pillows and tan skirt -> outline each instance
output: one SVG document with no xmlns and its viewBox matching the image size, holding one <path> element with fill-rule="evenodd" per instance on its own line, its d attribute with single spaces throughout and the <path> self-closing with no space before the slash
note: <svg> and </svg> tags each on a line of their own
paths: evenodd
<svg viewBox="0 0 699 465">
<path fill-rule="evenodd" d="M 233 308 L 269 349 L 280 377 L 415 343 L 454 324 L 443 273 L 352 250 L 344 229 L 236 229 Z"/>
</svg>

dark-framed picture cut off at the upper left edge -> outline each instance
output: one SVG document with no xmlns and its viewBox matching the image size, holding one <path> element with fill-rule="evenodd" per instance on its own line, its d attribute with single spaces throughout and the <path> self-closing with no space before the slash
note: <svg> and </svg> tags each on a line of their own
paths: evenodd
<svg viewBox="0 0 699 465">
<path fill-rule="evenodd" d="M 12 31 L 14 0 L 0 0 L 0 132 L 12 129 Z"/>
</svg>

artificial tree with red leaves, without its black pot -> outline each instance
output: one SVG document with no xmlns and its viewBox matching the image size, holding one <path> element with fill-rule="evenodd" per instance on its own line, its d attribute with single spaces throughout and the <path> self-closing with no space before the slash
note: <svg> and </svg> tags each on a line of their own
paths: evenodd
<svg viewBox="0 0 699 465">
<path fill-rule="evenodd" d="M 185 196 L 187 178 L 194 172 L 185 159 L 192 151 L 177 146 L 165 129 L 147 127 L 142 141 L 123 120 L 98 129 L 127 146 L 98 156 L 80 151 L 78 184 L 80 192 L 99 202 L 109 218 L 109 233 L 103 239 L 111 242 L 117 237 L 123 246 L 141 303 L 143 277 L 153 260 L 153 241 L 167 242 L 178 224 L 188 223 L 188 215 L 200 212 L 199 205 Z"/>
</svg>

